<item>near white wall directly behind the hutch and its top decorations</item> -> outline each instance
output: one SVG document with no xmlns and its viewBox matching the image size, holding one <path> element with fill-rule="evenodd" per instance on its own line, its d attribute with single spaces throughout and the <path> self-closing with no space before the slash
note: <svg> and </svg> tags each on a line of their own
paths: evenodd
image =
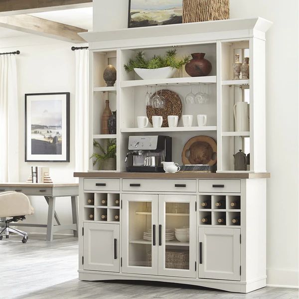
<svg viewBox="0 0 299 299">
<path fill-rule="evenodd" d="M 128 1 L 94 0 L 94 31 L 127 27 Z M 267 283 L 299 281 L 299 1 L 230 0 L 231 18 L 261 16 L 267 33 Z"/>
</svg>

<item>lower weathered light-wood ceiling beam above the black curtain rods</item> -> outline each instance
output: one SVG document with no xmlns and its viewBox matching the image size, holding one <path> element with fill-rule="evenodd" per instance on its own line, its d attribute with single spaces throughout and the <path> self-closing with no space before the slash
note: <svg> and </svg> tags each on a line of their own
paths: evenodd
<svg viewBox="0 0 299 299">
<path fill-rule="evenodd" d="M 27 14 L 1 16 L 0 27 L 74 43 L 86 42 L 78 33 L 88 31 Z"/>
</svg>

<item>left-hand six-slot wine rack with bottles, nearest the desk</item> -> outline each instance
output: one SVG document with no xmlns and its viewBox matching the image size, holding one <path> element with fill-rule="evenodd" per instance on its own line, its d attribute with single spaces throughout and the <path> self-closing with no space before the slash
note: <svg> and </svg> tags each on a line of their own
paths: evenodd
<svg viewBox="0 0 299 299">
<path fill-rule="evenodd" d="M 119 193 L 85 193 L 84 221 L 120 222 Z"/>
</svg>

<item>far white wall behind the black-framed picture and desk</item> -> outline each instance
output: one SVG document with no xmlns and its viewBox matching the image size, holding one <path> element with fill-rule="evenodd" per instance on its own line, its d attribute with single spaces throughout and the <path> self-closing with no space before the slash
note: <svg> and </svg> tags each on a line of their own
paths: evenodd
<svg viewBox="0 0 299 299">
<path fill-rule="evenodd" d="M 73 44 L 32 35 L 2 38 L 0 52 L 20 50 L 16 55 L 19 103 L 19 181 L 26 181 L 31 165 L 50 167 L 54 182 L 76 182 L 75 170 L 75 53 Z M 24 94 L 46 92 L 70 92 L 70 162 L 44 163 L 24 162 Z M 25 223 L 47 223 L 47 203 L 43 197 L 31 197 L 35 214 L 28 216 Z M 61 197 L 56 200 L 56 211 L 62 223 L 72 223 L 71 200 Z M 29 228 L 27 232 L 45 233 L 45 228 Z M 58 233 L 71 233 L 61 231 Z"/>
</svg>

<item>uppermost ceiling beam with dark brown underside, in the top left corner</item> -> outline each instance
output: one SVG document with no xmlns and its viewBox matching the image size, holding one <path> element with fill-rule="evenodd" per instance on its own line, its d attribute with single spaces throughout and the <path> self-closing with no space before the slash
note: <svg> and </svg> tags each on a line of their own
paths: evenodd
<svg viewBox="0 0 299 299">
<path fill-rule="evenodd" d="M 92 6 L 92 0 L 0 0 L 0 16 Z"/>
</svg>

